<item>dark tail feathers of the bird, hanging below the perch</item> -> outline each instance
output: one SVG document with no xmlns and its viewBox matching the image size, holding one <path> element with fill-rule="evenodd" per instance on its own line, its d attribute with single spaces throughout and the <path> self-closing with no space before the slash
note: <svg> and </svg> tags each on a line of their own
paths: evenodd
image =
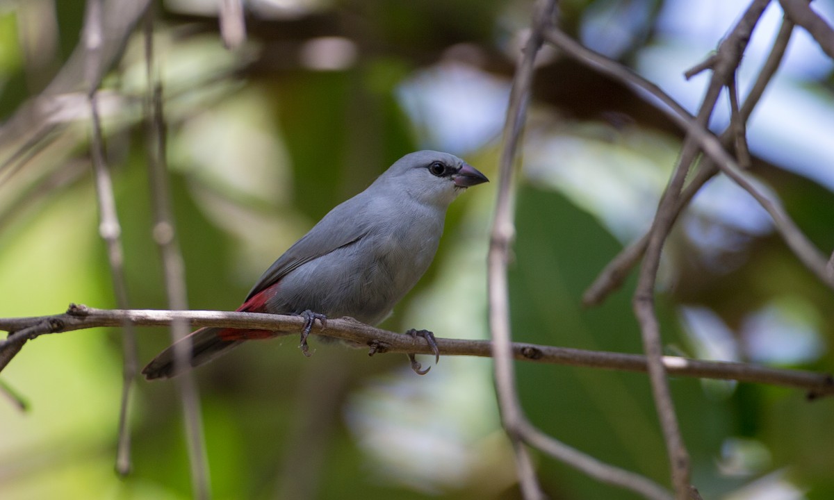
<svg viewBox="0 0 834 500">
<path fill-rule="evenodd" d="M 224 340 L 221 333 L 229 328 L 200 328 L 199 330 L 190 333 L 187 338 L 183 338 L 178 343 L 173 344 L 165 349 L 156 358 L 148 363 L 148 366 L 143 368 L 142 374 L 148 380 L 154 378 L 171 378 L 184 371 L 198 367 L 204 363 L 208 363 L 214 358 L 218 358 L 229 350 L 236 348 L 243 340 Z M 191 341 L 191 353 L 187 363 L 183 367 L 174 367 L 174 353 L 176 353 L 179 343 Z"/>
</svg>

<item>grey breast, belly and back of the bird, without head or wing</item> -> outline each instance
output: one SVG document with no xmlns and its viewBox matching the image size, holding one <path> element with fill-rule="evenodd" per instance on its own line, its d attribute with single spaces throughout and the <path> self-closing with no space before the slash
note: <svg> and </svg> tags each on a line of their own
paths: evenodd
<svg viewBox="0 0 834 500">
<path fill-rule="evenodd" d="M 445 207 L 366 193 L 334 208 L 310 230 L 315 238 L 349 220 L 361 236 L 287 273 L 269 299 L 270 313 L 309 309 L 376 324 L 414 287 L 435 257 Z"/>
</svg>

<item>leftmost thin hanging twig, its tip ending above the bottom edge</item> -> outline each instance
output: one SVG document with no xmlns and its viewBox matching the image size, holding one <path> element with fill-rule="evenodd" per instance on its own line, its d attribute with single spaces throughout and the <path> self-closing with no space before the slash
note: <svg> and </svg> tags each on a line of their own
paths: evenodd
<svg viewBox="0 0 834 500">
<path fill-rule="evenodd" d="M 113 180 L 105 162 L 101 118 L 98 115 L 98 82 L 101 74 L 101 50 L 103 47 L 102 0 L 88 0 L 84 23 L 84 43 L 88 52 L 85 66 L 89 84 L 90 117 L 93 138 L 90 153 L 93 158 L 96 195 L 98 198 L 98 231 L 107 245 L 108 263 L 113 278 L 113 294 L 119 308 L 129 308 L 128 288 L 124 278 L 124 253 L 122 249 L 122 228 L 118 222 L 116 199 L 113 195 Z M 119 405 L 118 445 L 116 472 L 126 475 L 130 472 L 130 393 L 137 371 L 136 333 L 133 325 L 125 320 L 122 325 L 122 398 Z"/>
</svg>

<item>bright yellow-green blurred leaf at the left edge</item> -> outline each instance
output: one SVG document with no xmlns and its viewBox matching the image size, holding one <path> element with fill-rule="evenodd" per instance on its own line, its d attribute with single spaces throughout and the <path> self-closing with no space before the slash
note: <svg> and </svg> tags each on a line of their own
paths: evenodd
<svg viewBox="0 0 834 500">
<path fill-rule="evenodd" d="M 13 241 L 0 244 L 0 313 L 58 313 L 70 302 L 108 304 L 95 258 L 98 222 L 89 184 L 49 200 Z M 59 498 L 101 492 L 113 474 L 120 358 L 101 330 L 28 343 L 3 378 L 31 404 L 0 404 L 0 496 Z M 49 481 L 40 475 L 49 464 Z M 66 497 L 64 497 L 66 498 Z"/>
</svg>

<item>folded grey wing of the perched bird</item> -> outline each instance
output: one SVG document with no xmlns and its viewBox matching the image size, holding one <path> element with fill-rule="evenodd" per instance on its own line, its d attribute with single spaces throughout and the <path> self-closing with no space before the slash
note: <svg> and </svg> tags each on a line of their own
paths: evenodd
<svg viewBox="0 0 834 500">
<path fill-rule="evenodd" d="M 369 224 L 362 217 L 365 207 L 357 198 L 359 196 L 350 198 L 331 210 L 309 233 L 284 252 L 255 283 L 246 300 L 278 283 L 304 263 L 364 238 L 369 233 Z"/>
</svg>

